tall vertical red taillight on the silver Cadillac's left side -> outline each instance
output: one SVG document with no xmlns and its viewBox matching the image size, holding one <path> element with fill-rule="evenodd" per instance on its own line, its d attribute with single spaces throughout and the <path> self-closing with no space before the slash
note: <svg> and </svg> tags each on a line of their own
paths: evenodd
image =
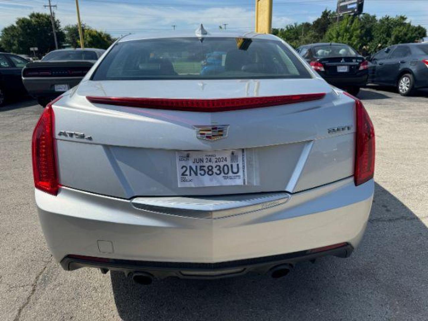
<svg viewBox="0 0 428 321">
<path fill-rule="evenodd" d="M 52 104 L 61 97 L 51 101 L 43 111 L 33 131 L 31 145 L 33 157 L 34 186 L 46 193 L 58 193 L 58 176 L 56 175 L 55 146 L 53 131 L 55 128 Z"/>
</svg>

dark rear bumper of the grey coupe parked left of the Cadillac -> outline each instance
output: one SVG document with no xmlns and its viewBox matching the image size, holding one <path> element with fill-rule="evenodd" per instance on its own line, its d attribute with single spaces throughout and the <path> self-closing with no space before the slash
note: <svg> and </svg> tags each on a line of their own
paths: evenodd
<svg viewBox="0 0 428 321">
<path fill-rule="evenodd" d="M 68 85 L 71 88 L 80 83 L 83 77 L 30 77 L 22 78 L 27 92 L 35 98 L 56 98 L 63 92 L 55 91 L 55 85 Z"/>
</svg>

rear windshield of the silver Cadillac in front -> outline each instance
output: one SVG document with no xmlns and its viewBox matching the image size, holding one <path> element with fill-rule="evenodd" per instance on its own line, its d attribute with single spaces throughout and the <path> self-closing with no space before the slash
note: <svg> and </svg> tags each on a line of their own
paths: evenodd
<svg viewBox="0 0 428 321">
<path fill-rule="evenodd" d="M 282 42 L 195 37 L 119 42 L 92 80 L 309 77 Z"/>
</svg>

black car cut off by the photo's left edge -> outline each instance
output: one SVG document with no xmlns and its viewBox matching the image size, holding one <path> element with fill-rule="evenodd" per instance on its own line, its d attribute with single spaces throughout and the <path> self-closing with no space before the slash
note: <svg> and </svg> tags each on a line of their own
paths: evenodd
<svg viewBox="0 0 428 321">
<path fill-rule="evenodd" d="M 0 107 L 10 96 L 27 95 L 21 71 L 29 61 L 12 53 L 0 52 Z"/>
</svg>

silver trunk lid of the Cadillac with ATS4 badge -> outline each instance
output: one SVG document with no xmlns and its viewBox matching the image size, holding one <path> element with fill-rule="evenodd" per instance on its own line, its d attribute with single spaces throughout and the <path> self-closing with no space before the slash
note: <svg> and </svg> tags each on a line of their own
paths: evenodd
<svg viewBox="0 0 428 321">
<path fill-rule="evenodd" d="M 219 92 L 222 98 L 231 99 L 325 96 L 217 112 L 139 108 L 87 99 L 214 100 Z M 354 102 L 339 103 L 338 95 L 320 79 L 85 81 L 60 103 L 54 106 L 59 181 L 80 190 L 123 198 L 295 192 L 353 172 Z M 223 125 L 228 132 L 222 139 L 198 137 L 198 126 L 213 130 Z M 346 131 L 328 133 L 338 125 L 349 126 Z M 242 184 L 179 184 L 180 156 L 223 157 L 232 152 L 245 154 Z"/>
</svg>

